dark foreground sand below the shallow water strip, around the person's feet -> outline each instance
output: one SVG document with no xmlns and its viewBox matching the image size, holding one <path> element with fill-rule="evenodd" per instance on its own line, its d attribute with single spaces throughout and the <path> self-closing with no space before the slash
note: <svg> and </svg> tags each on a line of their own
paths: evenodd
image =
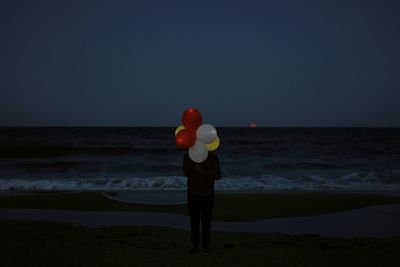
<svg viewBox="0 0 400 267">
<path fill-rule="evenodd" d="M 399 266 L 400 238 L 212 233 L 213 254 L 188 255 L 189 232 L 0 222 L 2 266 Z"/>
</svg>

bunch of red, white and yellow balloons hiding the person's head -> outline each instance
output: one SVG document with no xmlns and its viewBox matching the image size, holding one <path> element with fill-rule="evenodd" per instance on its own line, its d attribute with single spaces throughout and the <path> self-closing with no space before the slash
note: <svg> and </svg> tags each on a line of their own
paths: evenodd
<svg viewBox="0 0 400 267">
<path fill-rule="evenodd" d="M 194 162 L 207 159 L 208 151 L 214 151 L 220 144 L 217 130 L 211 124 L 202 124 L 201 113 L 188 108 L 182 114 L 182 125 L 175 130 L 175 143 L 180 148 L 189 148 L 189 157 Z"/>
</svg>

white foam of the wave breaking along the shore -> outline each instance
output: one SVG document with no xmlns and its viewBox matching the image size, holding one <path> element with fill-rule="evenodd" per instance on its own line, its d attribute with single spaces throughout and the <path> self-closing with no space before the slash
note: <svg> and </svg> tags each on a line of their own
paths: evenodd
<svg viewBox="0 0 400 267">
<path fill-rule="evenodd" d="M 185 190 L 184 176 L 132 178 L 76 178 L 76 179 L 0 179 L 0 190 Z M 400 191 L 400 184 L 382 183 L 373 174 L 344 175 L 326 179 L 311 175 L 289 179 L 276 175 L 223 177 L 216 181 L 215 190 L 279 191 L 279 190 L 340 190 L 340 191 Z"/>
</svg>

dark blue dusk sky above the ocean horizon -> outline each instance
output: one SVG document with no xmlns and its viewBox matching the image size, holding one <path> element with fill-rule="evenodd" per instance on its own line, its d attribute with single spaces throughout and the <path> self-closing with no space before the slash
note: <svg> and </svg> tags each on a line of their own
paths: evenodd
<svg viewBox="0 0 400 267">
<path fill-rule="evenodd" d="M 75 2 L 75 3 L 71 3 Z M 398 1 L 1 1 L 0 125 L 400 126 Z"/>
</svg>

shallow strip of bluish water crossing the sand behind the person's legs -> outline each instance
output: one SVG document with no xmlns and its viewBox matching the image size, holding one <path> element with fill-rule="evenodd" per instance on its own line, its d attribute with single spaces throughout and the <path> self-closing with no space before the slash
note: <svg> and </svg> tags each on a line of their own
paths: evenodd
<svg viewBox="0 0 400 267">
<path fill-rule="evenodd" d="M 323 237 L 400 237 L 400 203 L 349 211 L 256 221 L 212 220 L 213 232 L 315 234 Z M 55 222 L 90 228 L 158 226 L 190 230 L 188 216 L 160 212 L 77 211 L 60 209 L 2 209 L 0 221 Z"/>
</svg>

